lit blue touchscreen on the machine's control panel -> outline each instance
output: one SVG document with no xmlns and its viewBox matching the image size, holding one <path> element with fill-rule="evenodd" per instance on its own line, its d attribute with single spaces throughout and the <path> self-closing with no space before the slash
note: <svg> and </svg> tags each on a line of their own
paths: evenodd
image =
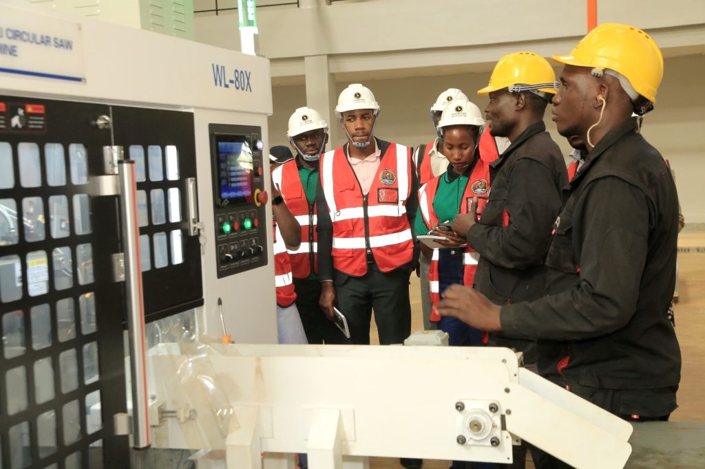
<svg viewBox="0 0 705 469">
<path fill-rule="evenodd" d="M 246 141 L 218 140 L 219 196 L 231 202 L 252 200 L 252 149 Z"/>
</svg>

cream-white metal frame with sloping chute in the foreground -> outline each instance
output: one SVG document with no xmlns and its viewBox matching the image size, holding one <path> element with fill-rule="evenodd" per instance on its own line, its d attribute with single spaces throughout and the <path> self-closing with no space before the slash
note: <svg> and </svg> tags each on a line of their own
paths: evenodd
<svg viewBox="0 0 705 469">
<path fill-rule="evenodd" d="M 150 356 L 159 405 L 197 418 L 154 438 L 225 447 L 228 468 L 292 468 L 303 452 L 312 469 L 366 468 L 367 456 L 509 463 L 513 436 L 577 468 L 622 468 L 631 453 L 630 423 L 509 349 L 168 345 Z"/>
</svg>

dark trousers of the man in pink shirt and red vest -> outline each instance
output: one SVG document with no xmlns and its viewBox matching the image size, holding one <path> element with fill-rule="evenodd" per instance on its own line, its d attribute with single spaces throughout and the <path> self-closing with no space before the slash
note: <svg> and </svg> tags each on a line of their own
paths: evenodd
<svg viewBox="0 0 705 469">
<path fill-rule="evenodd" d="M 402 344 L 411 334 L 409 275 L 403 268 L 383 273 L 367 264 L 362 277 L 336 275 L 336 307 L 348 320 L 348 344 L 369 345 L 369 325 L 374 322 L 381 345 Z"/>
</svg>

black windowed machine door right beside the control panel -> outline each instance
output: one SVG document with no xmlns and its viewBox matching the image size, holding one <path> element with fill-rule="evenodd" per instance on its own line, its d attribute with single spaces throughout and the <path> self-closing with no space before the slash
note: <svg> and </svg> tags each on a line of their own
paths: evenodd
<svg viewBox="0 0 705 469">
<path fill-rule="evenodd" d="M 201 254 L 188 234 L 188 178 L 196 177 L 193 113 L 112 107 L 115 144 L 135 161 L 145 316 L 203 304 Z M 194 192 L 195 194 L 195 192 Z M 165 279 L 168 278 L 168 282 Z"/>
</svg>

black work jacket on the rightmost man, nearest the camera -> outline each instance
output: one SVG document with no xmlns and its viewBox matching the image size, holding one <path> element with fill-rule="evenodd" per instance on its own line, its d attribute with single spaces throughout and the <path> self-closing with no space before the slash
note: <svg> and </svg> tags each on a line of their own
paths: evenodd
<svg viewBox="0 0 705 469">
<path fill-rule="evenodd" d="M 587 154 L 563 193 L 547 296 L 503 307 L 502 328 L 538 338 L 539 371 L 558 384 L 638 390 L 623 413 L 667 415 L 680 381 L 667 315 L 678 239 L 670 170 L 631 119 Z M 657 398 L 648 391 L 666 387 Z"/>
</svg>

